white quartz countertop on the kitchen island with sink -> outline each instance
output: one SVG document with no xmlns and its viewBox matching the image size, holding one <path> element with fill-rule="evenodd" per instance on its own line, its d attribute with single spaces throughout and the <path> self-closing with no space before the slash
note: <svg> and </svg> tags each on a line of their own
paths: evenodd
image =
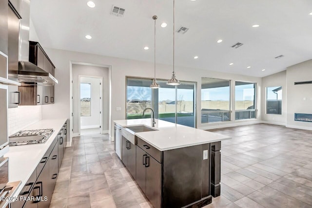
<svg viewBox="0 0 312 208">
<path fill-rule="evenodd" d="M 151 118 L 115 120 L 114 122 L 121 127 L 144 125 L 158 130 L 137 132 L 135 135 L 154 146 L 159 151 L 173 150 L 231 139 L 230 136 L 207 132 L 159 119 L 156 119 L 155 127 L 152 127 Z"/>
</svg>

